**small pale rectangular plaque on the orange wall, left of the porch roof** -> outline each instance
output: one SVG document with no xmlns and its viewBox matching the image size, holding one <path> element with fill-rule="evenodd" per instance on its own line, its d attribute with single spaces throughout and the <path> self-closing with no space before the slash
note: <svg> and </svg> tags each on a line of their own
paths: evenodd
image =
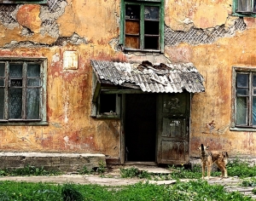
<svg viewBox="0 0 256 201">
<path fill-rule="evenodd" d="M 77 51 L 65 51 L 63 53 L 63 69 L 77 70 L 79 68 L 79 55 Z"/>
</svg>

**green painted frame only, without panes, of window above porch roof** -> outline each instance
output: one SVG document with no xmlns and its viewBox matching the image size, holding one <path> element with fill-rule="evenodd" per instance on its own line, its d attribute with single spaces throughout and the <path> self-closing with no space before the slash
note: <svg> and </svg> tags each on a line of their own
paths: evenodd
<svg viewBox="0 0 256 201">
<path fill-rule="evenodd" d="M 125 4 L 134 5 L 146 5 L 146 6 L 159 6 L 160 7 L 160 43 L 159 49 L 125 49 Z M 143 9 L 141 9 L 141 18 L 143 16 Z M 164 52 L 164 1 L 163 0 L 121 0 L 121 14 L 120 14 L 120 35 L 119 44 L 124 47 L 127 51 L 147 51 L 147 52 Z M 143 18 L 142 18 L 143 19 Z M 144 43 L 143 39 L 143 20 L 140 21 L 140 39 L 141 43 Z"/>
</svg>

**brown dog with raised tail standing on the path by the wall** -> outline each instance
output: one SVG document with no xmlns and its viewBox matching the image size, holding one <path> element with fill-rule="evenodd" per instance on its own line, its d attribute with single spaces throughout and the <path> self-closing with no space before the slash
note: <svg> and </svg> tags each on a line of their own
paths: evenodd
<svg viewBox="0 0 256 201">
<path fill-rule="evenodd" d="M 228 177 L 228 172 L 226 169 L 226 164 L 228 163 L 228 152 L 218 152 L 212 151 L 208 152 L 207 149 L 209 146 L 201 146 L 198 147 L 200 151 L 200 158 L 201 158 L 201 170 L 202 170 L 202 179 L 205 177 L 205 169 L 207 166 L 207 179 L 211 176 L 212 171 L 212 164 L 217 164 L 218 168 L 221 170 L 221 177 Z"/>
</svg>

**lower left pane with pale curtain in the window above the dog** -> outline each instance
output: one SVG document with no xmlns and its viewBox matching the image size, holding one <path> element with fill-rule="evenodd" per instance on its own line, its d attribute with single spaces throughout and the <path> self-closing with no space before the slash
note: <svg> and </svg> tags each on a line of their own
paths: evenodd
<svg viewBox="0 0 256 201">
<path fill-rule="evenodd" d="M 247 97 L 236 99 L 236 124 L 247 125 Z"/>
</svg>

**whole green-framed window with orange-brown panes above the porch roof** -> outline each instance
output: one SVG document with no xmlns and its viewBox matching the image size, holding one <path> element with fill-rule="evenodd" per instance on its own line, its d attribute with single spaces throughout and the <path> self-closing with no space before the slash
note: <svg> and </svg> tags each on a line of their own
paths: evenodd
<svg viewBox="0 0 256 201">
<path fill-rule="evenodd" d="M 126 50 L 163 49 L 162 1 L 125 1 L 122 3 L 120 43 Z"/>
</svg>

